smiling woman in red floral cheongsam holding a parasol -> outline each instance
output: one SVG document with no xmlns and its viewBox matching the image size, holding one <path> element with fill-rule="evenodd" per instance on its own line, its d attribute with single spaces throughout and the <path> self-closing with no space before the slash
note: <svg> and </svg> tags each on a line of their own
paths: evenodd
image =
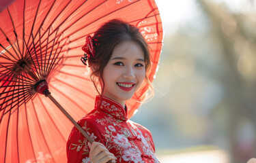
<svg viewBox="0 0 256 163">
<path fill-rule="evenodd" d="M 127 118 L 126 101 L 141 84 L 152 88 L 147 79 L 150 54 L 139 29 L 111 20 L 94 37 L 87 37 L 83 50 L 83 62 L 91 69 L 99 95 L 95 109 L 78 123 L 95 142 L 90 144 L 73 128 L 67 143 L 68 162 L 159 162 L 150 131 Z"/>
</svg>

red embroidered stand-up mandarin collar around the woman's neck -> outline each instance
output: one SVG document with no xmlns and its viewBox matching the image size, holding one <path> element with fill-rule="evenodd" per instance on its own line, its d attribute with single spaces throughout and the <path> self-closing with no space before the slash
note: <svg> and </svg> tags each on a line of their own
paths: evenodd
<svg viewBox="0 0 256 163">
<path fill-rule="evenodd" d="M 96 100 L 95 100 L 96 109 L 100 109 L 119 120 L 122 120 L 122 121 L 128 120 L 127 113 L 126 113 L 127 109 L 124 109 L 122 105 L 105 96 L 102 96 L 101 104 L 100 104 L 100 101 L 101 101 L 101 96 L 96 96 Z"/>
</svg>

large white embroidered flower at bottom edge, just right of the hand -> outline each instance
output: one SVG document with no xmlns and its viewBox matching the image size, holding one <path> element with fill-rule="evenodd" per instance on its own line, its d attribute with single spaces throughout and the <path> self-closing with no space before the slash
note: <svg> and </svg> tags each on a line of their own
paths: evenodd
<svg viewBox="0 0 256 163">
<path fill-rule="evenodd" d="M 141 153 L 136 151 L 134 148 L 130 148 L 124 151 L 122 158 L 127 162 L 133 161 L 134 163 L 139 163 L 142 161 Z"/>
</svg>

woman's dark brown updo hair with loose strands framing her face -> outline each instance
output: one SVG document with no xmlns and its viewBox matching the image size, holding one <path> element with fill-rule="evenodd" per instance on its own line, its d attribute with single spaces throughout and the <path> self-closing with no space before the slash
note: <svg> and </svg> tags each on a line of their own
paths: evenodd
<svg viewBox="0 0 256 163">
<path fill-rule="evenodd" d="M 131 40 L 139 43 L 144 52 L 145 71 L 147 72 L 150 69 L 151 62 L 149 47 L 136 26 L 128 24 L 128 22 L 124 22 L 122 20 L 113 19 L 100 26 L 100 29 L 94 33 L 92 40 L 95 47 L 95 56 L 91 56 L 88 60 L 88 63 L 89 65 L 94 65 L 96 70 L 91 73 L 90 77 L 91 81 L 94 82 L 94 86 L 97 92 L 100 95 L 102 95 L 104 92 L 104 67 L 109 62 L 115 46 L 117 46 L 117 44 L 121 43 L 122 41 Z M 100 81 L 102 82 L 100 83 L 102 88 L 101 92 L 97 88 L 99 81 L 96 83 L 94 77 L 99 77 Z M 147 82 L 150 88 L 152 88 L 152 84 L 147 78 L 147 75 L 145 76 L 145 82 Z M 144 96 L 145 95 L 146 92 Z"/>
</svg>

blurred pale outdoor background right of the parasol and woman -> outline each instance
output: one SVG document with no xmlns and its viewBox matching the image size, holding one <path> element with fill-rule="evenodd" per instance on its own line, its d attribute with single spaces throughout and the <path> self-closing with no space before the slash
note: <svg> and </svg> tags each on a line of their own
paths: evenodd
<svg viewBox="0 0 256 163">
<path fill-rule="evenodd" d="M 256 0 L 156 0 L 165 37 L 155 96 L 131 120 L 165 162 L 256 157 Z"/>
</svg>

